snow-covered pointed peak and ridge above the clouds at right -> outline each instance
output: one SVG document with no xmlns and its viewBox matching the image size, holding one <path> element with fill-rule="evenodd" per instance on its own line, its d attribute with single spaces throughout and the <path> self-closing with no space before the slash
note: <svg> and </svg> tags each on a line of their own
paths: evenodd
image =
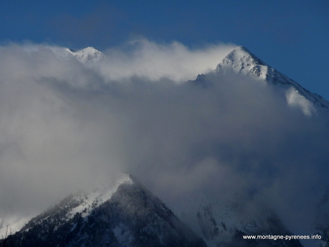
<svg viewBox="0 0 329 247">
<path fill-rule="evenodd" d="M 227 71 L 252 76 L 263 83 L 283 88 L 287 104 L 290 107 L 301 109 L 306 116 L 311 116 L 316 112 L 329 112 L 327 100 L 309 92 L 294 80 L 268 66 L 245 47 L 234 49 L 216 68 L 216 73 L 226 73 Z"/>
</svg>

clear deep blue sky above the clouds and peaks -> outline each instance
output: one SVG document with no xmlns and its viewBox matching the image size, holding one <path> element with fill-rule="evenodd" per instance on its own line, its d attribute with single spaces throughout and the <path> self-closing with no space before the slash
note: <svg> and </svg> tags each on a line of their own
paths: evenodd
<svg viewBox="0 0 329 247">
<path fill-rule="evenodd" d="M 328 1 L 1 1 L 0 44 L 234 43 L 329 99 Z M 219 63 L 220 61 L 218 61 Z"/>
</svg>

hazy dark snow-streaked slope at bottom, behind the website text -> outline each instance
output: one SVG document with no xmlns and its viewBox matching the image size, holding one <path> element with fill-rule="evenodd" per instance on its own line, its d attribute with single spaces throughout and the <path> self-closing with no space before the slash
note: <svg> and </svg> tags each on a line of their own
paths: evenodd
<svg viewBox="0 0 329 247">
<path fill-rule="evenodd" d="M 300 247 L 297 240 L 243 239 L 243 236 L 291 236 L 278 215 L 264 205 L 236 200 L 235 202 L 202 202 L 197 211 L 199 236 L 207 246 L 292 246 Z"/>
</svg>

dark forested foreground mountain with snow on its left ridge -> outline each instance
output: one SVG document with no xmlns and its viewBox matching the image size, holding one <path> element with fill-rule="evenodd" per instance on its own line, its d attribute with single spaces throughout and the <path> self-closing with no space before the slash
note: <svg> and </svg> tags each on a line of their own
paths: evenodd
<svg viewBox="0 0 329 247">
<path fill-rule="evenodd" d="M 206 246 L 173 212 L 124 175 L 116 186 L 73 193 L 13 234 L 13 246 Z"/>
</svg>

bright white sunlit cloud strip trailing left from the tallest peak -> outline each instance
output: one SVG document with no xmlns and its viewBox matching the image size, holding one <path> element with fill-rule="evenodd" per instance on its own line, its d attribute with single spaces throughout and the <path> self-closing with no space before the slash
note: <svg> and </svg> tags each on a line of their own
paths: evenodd
<svg viewBox="0 0 329 247">
<path fill-rule="evenodd" d="M 121 49 L 108 49 L 107 60 L 101 73 L 111 80 L 132 76 L 149 80 L 168 78 L 182 83 L 206 73 L 236 46 L 233 44 L 209 45 L 201 49 L 189 49 L 179 42 L 157 44 L 146 39 L 133 40 Z"/>
</svg>

